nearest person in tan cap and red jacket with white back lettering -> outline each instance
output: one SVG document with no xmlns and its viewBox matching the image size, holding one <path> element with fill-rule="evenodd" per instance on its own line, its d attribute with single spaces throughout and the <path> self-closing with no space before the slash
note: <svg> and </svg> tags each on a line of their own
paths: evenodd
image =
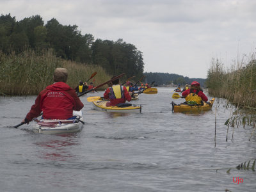
<svg viewBox="0 0 256 192">
<path fill-rule="evenodd" d="M 22 123 L 31 122 L 33 118 L 40 116 L 42 111 L 44 119 L 61 120 L 72 118 L 73 110 L 80 111 L 84 105 L 75 90 L 66 83 L 67 78 L 66 68 L 56 68 L 53 74 L 54 83 L 39 93 Z"/>
</svg>

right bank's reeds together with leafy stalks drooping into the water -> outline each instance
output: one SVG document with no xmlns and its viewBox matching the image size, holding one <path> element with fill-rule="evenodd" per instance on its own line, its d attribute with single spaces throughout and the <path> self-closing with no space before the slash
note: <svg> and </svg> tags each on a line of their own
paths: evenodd
<svg viewBox="0 0 256 192">
<path fill-rule="evenodd" d="M 234 128 L 240 125 L 252 127 L 252 136 L 255 136 L 256 122 L 256 60 L 255 54 L 244 54 L 241 60 L 234 61 L 230 68 L 213 59 L 211 68 L 207 74 L 206 86 L 209 94 L 213 97 L 222 97 L 228 100 L 227 108 L 234 108 L 234 112 L 227 119 L 228 129 L 232 127 L 232 138 Z"/>
</svg>

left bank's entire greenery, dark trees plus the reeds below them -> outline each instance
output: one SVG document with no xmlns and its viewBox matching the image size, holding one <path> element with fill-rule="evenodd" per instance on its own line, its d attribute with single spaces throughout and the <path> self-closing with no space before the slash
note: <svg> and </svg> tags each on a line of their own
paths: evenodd
<svg viewBox="0 0 256 192">
<path fill-rule="evenodd" d="M 6 85 L 1 85 L 2 88 L 4 87 L 1 92 L 10 95 L 23 95 L 26 93 L 26 87 L 29 86 L 28 83 L 34 81 L 35 85 L 33 86 L 35 87 L 31 87 L 31 90 L 26 94 L 37 93 L 41 88 L 41 85 L 38 84 L 41 81 L 37 81 L 38 76 L 42 81 L 44 80 L 43 83 L 46 81 L 49 83 L 51 79 L 47 80 L 49 76 L 45 76 L 45 74 L 52 72 L 52 68 L 56 66 L 64 65 L 67 65 L 67 68 L 69 65 L 74 65 L 72 68 L 77 68 L 74 70 L 77 72 L 74 77 L 90 70 L 102 70 L 102 74 L 104 70 L 109 76 L 124 72 L 126 77 L 143 76 L 142 52 L 135 45 L 128 44 L 120 38 L 116 39 L 115 42 L 113 40 L 95 40 L 92 34 L 85 33 L 82 35 L 78 26 L 63 26 L 54 18 L 44 24 L 40 15 L 24 18 L 20 21 L 17 21 L 10 13 L 1 15 L 0 51 L 4 63 L 0 63 L 3 69 L 1 72 L 3 76 L 0 79 L 1 81 L 8 79 L 6 76 L 10 72 L 13 77 L 16 76 L 15 83 L 21 86 L 17 89 L 11 88 L 10 86 L 13 84 L 10 84 L 10 78 L 12 78 L 10 77 L 6 81 Z M 49 65 L 46 64 L 48 60 L 51 63 Z M 26 64 L 24 65 L 24 63 Z M 43 67 L 46 68 L 43 69 Z M 84 76 L 87 75 L 84 74 Z M 70 77 L 71 86 L 74 86 L 72 74 Z M 98 77 L 99 74 L 95 78 Z M 26 84 L 22 84 L 24 80 L 26 80 Z"/>
</svg>

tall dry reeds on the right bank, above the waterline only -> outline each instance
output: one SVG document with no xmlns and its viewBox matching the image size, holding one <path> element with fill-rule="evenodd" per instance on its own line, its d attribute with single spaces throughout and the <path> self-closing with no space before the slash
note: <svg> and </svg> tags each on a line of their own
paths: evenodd
<svg viewBox="0 0 256 192">
<path fill-rule="evenodd" d="M 214 97 L 223 97 L 238 107 L 256 109 L 256 60 L 255 54 L 244 55 L 225 70 L 218 59 L 212 60 L 208 71 L 207 87 Z"/>
</svg>

